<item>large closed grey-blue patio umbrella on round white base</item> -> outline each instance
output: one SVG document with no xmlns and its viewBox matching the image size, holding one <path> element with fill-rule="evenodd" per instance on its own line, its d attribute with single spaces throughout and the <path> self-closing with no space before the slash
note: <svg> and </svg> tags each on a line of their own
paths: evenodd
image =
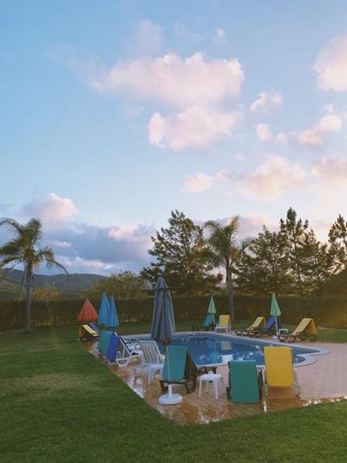
<svg viewBox="0 0 347 463">
<path fill-rule="evenodd" d="M 168 374 L 168 394 L 159 397 L 159 403 L 173 405 L 182 402 L 180 394 L 173 394 L 173 385 L 170 382 L 169 348 L 171 338 L 175 332 L 173 301 L 163 277 L 157 279 L 156 292 L 153 303 L 153 317 L 150 335 L 157 342 L 165 345 Z"/>
</svg>

